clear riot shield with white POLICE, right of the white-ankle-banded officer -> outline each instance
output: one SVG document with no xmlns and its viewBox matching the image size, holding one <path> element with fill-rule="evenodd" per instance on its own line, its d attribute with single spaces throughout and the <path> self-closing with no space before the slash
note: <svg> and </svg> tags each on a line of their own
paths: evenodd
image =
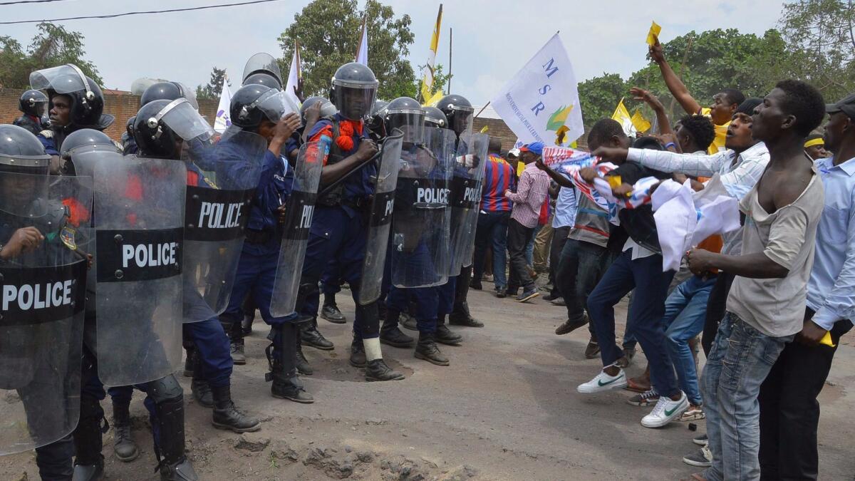
<svg viewBox="0 0 855 481">
<path fill-rule="evenodd" d="M 401 152 L 392 216 L 392 285 L 437 286 L 448 281 L 448 181 L 454 132 L 425 130 L 424 143 Z"/>
</svg>

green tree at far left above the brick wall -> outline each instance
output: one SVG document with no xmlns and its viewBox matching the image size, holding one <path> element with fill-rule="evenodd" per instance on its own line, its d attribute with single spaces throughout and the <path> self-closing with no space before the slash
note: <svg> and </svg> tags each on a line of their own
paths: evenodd
<svg viewBox="0 0 855 481">
<path fill-rule="evenodd" d="M 0 68 L 0 86 L 26 88 L 30 85 L 30 72 L 63 63 L 74 63 L 98 85 L 103 85 L 95 65 L 84 58 L 82 33 L 48 22 L 39 23 L 36 28 L 27 50 L 17 40 L 0 36 L 0 65 L 3 66 Z"/>
</svg>

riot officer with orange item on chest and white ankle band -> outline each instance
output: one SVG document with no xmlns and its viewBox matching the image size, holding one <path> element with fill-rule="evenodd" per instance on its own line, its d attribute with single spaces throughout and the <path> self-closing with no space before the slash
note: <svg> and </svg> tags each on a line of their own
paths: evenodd
<svg viewBox="0 0 855 481">
<path fill-rule="evenodd" d="M 374 193 L 372 177 L 377 168 L 369 161 L 377 146 L 368 138 L 363 119 L 374 105 L 377 79 L 367 66 L 351 62 L 336 70 L 330 99 L 339 110 L 315 124 L 308 138 L 329 143 L 327 163 L 321 174 L 321 189 L 339 181 L 320 195 L 315 206 L 309 246 L 300 280 L 297 311 L 308 320 L 302 332 L 304 345 L 330 347 L 317 330 L 318 281 L 327 261 L 336 258 L 343 279 L 357 300 L 353 323 L 351 365 L 365 367 L 369 381 L 403 379 L 383 361 L 380 349 L 380 319 L 377 302 L 359 305 L 358 293 L 365 259 L 369 199 Z M 384 245 L 385 247 L 385 245 Z"/>
</svg>

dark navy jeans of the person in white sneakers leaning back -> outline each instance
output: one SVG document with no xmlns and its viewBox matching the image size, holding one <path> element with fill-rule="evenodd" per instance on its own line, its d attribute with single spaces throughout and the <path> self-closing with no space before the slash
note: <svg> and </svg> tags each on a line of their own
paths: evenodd
<svg viewBox="0 0 855 481">
<path fill-rule="evenodd" d="M 605 271 L 588 296 L 587 308 L 599 342 L 603 365 L 612 365 L 623 352 L 615 342 L 615 305 L 635 289 L 627 316 L 627 331 L 637 339 L 650 364 L 653 389 L 665 396 L 680 394 L 674 368 L 665 348 L 665 294 L 674 271 L 662 271 L 662 256 L 654 254 L 632 260 L 631 250 L 622 252 Z"/>
</svg>

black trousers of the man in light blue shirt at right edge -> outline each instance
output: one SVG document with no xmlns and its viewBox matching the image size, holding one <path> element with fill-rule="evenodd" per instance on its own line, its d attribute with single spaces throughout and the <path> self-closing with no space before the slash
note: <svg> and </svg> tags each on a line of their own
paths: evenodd
<svg viewBox="0 0 855 481">
<path fill-rule="evenodd" d="M 814 312 L 806 309 L 805 321 Z M 834 324 L 831 340 L 852 328 Z M 760 386 L 760 478 L 816 479 L 819 466 L 817 426 L 819 402 L 837 347 L 805 346 L 793 341 L 784 347 Z"/>
</svg>

